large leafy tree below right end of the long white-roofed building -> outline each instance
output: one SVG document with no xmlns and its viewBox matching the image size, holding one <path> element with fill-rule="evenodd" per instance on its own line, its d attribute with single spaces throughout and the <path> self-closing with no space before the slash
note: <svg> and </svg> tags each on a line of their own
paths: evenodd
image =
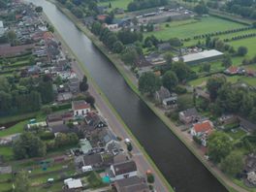
<svg viewBox="0 0 256 192">
<path fill-rule="evenodd" d="M 207 88 L 209 92 L 209 97 L 211 101 L 215 101 L 217 98 L 217 93 L 219 88 L 226 82 L 226 78 L 224 76 L 213 76 L 208 79 Z"/>
</svg>

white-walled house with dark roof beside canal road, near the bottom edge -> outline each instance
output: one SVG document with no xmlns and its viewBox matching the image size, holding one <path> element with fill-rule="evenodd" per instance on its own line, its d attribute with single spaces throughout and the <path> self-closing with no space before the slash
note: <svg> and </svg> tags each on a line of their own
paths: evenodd
<svg viewBox="0 0 256 192">
<path fill-rule="evenodd" d="M 137 166 L 134 161 L 126 161 L 126 162 L 113 164 L 109 172 L 109 176 L 111 177 L 112 181 L 132 177 L 132 176 L 137 176 L 137 175 L 138 175 Z"/>
</svg>

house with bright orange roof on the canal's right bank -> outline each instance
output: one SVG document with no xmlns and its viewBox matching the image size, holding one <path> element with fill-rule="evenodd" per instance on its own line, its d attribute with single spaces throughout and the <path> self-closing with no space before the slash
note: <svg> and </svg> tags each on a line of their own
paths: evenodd
<svg viewBox="0 0 256 192">
<path fill-rule="evenodd" d="M 192 137 L 197 137 L 201 140 L 202 145 L 207 146 L 208 136 L 213 131 L 213 124 L 209 120 L 205 120 L 203 122 L 199 122 L 193 125 L 190 130 L 190 134 Z"/>
</svg>

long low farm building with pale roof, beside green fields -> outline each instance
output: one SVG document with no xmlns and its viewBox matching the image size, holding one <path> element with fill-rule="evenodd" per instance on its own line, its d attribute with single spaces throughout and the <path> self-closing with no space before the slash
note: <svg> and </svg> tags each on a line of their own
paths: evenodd
<svg viewBox="0 0 256 192">
<path fill-rule="evenodd" d="M 221 58 L 222 56 L 223 56 L 222 52 L 215 49 L 211 49 L 211 50 L 204 50 L 202 52 L 187 54 L 182 56 L 181 58 L 186 64 L 198 64 L 202 62 L 216 60 Z M 178 61 L 179 59 L 180 57 L 174 57 L 174 61 Z"/>
</svg>

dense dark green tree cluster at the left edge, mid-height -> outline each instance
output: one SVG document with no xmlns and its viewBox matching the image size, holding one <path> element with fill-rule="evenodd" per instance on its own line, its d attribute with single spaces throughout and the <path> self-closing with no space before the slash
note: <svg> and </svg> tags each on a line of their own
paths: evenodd
<svg viewBox="0 0 256 192">
<path fill-rule="evenodd" d="M 39 79 L 0 78 L 0 115 L 37 112 L 42 104 L 53 101 L 52 81 Z"/>
</svg>

